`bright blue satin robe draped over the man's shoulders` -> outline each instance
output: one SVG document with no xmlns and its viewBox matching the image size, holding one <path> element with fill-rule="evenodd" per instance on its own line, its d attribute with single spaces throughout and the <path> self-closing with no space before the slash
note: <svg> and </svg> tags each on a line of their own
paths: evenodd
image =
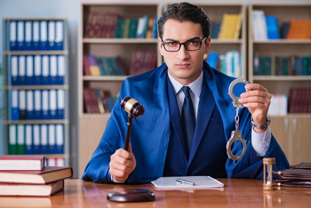
<svg viewBox="0 0 311 208">
<path fill-rule="evenodd" d="M 235 130 L 234 116 L 236 113 L 232 99 L 228 95 L 228 89 L 230 83 L 235 78 L 211 68 L 205 61 L 203 62 L 203 73 L 221 113 L 228 141 L 231 137 L 231 132 Z M 111 183 L 109 174 L 110 156 L 117 149 L 123 147 L 126 137 L 128 114 L 120 107 L 120 101 L 126 96 L 135 98 L 145 106 L 145 113 L 141 117 L 133 119 L 130 142 L 137 165 L 126 183 L 149 183 L 163 175 L 170 137 L 170 113 L 166 76 L 167 66 L 163 64 L 152 71 L 130 77 L 123 82 L 119 98 L 111 112 L 104 134 L 91 160 L 85 167 L 82 176 L 83 180 Z M 202 131 L 204 130 L 202 129 Z M 252 163 L 252 158 L 256 156 L 250 154 L 249 151 L 252 148 L 250 142 L 251 125 L 250 113 L 247 108 L 239 110 L 239 130 L 242 132 L 242 138 L 247 141 L 246 153 L 238 161 L 228 158 L 226 162 L 227 175 L 229 178 L 262 178 L 262 161 Z M 224 149 L 224 151 L 226 150 Z M 241 151 L 241 143 L 234 142 L 232 147 L 233 154 L 239 155 Z M 273 135 L 265 157 L 276 158 L 274 170 L 285 169 L 289 166 L 285 154 Z"/>
</svg>

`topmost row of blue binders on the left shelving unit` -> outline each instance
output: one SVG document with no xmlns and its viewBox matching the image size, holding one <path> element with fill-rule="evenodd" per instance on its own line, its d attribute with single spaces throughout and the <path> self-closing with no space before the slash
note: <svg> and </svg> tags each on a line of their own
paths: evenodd
<svg viewBox="0 0 311 208">
<path fill-rule="evenodd" d="M 9 50 L 63 50 L 63 20 L 8 21 Z"/>
</svg>

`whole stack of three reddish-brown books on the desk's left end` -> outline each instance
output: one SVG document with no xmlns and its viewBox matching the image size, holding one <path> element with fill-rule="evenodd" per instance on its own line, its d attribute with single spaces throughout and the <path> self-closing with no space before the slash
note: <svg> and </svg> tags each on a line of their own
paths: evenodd
<svg viewBox="0 0 311 208">
<path fill-rule="evenodd" d="M 49 197 L 72 176 L 71 167 L 44 166 L 43 155 L 0 155 L 0 196 Z"/>
</svg>

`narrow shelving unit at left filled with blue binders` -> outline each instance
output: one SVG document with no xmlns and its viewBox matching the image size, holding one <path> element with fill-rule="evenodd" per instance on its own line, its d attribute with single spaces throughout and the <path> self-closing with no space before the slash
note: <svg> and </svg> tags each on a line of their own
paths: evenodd
<svg viewBox="0 0 311 208">
<path fill-rule="evenodd" d="M 46 165 L 70 164 L 66 21 L 4 18 L 4 154 L 43 154 Z"/>
</svg>

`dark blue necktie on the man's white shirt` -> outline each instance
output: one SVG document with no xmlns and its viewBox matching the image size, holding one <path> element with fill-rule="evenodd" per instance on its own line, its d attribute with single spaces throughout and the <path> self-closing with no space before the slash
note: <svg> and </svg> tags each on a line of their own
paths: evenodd
<svg viewBox="0 0 311 208">
<path fill-rule="evenodd" d="M 185 94 L 185 100 L 182 104 L 181 111 L 181 125 L 189 158 L 195 129 L 194 108 L 190 97 L 190 88 L 188 86 L 183 86 L 181 90 Z"/>
</svg>

